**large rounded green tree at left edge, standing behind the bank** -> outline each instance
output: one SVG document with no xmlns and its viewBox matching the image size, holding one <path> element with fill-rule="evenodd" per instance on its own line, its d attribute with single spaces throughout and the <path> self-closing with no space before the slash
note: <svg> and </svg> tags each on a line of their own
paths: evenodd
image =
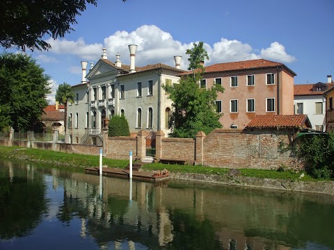
<svg viewBox="0 0 334 250">
<path fill-rule="evenodd" d="M 0 55 L 1 128 L 33 130 L 47 106 L 50 77 L 36 61 L 23 53 Z"/>
</svg>

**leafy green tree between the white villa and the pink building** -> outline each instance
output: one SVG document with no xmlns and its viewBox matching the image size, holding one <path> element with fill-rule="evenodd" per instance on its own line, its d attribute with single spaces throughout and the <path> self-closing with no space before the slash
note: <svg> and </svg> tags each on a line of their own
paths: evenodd
<svg viewBox="0 0 334 250">
<path fill-rule="evenodd" d="M 164 85 L 164 90 L 170 94 L 173 101 L 173 111 L 170 117 L 170 137 L 194 138 L 198 131 L 210 133 L 214 128 L 221 128 L 219 122 L 220 113 L 216 113 L 217 92 L 223 92 L 221 85 L 213 85 L 211 89 L 200 88 L 202 70 L 197 70 L 202 65 L 200 61 L 207 56 L 207 51 L 202 48 L 202 42 L 194 44 L 193 49 L 186 51 L 190 55 L 189 69 L 193 74 L 180 78 L 180 84 Z"/>
</svg>

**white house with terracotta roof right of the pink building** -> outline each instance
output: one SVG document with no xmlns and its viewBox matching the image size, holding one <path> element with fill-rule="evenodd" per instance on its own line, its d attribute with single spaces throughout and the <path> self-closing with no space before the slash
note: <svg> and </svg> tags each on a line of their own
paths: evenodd
<svg viewBox="0 0 334 250">
<path fill-rule="evenodd" d="M 331 76 L 327 83 L 294 85 L 294 113 L 308 115 L 312 129 L 325 130 L 326 98 L 323 94 L 333 86 Z"/>
</svg>

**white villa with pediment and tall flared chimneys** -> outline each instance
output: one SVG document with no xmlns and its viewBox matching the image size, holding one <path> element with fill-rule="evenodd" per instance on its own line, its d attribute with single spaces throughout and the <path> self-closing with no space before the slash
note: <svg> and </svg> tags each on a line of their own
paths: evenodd
<svg viewBox="0 0 334 250">
<path fill-rule="evenodd" d="M 135 67 L 136 45 L 129 45 L 130 65 L 122 65 L 120 55 L 116 62 L 107 59 L 106 49 L 86 74 L 86 62 L 81 62 L 83 78 L 74 85 L 74 103 L 67 104 L 69 126 L 67 142 L 84 143 L 85 134 L 99 134 L 105 119 L 125 115 L 130 133 L 139 130 L 169 133 L 171 101 L 162 88 L 163 84 L 177 83 L 180 56 L 175 56 L 175 67 L 161 63 Z M 86 81 L 86 78 L 88 81 Z M 94 142 L 93 142 L 94 143 Z"/>
</svg>

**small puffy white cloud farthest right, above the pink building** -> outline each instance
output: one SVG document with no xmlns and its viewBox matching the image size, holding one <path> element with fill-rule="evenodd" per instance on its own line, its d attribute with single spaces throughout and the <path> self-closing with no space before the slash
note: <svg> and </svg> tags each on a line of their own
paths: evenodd
<svg viewBox="0 0 334 250">
<path fill-rule="evenodd" d="M 283 63 L 292 63 L 296 60 L 294 56 L 288 55 L 285 47 L 278 42 L 273 42 L 267 49 L 261 49 L 261 56 L 268 60 L 278 60 Z"/>
</svg>

